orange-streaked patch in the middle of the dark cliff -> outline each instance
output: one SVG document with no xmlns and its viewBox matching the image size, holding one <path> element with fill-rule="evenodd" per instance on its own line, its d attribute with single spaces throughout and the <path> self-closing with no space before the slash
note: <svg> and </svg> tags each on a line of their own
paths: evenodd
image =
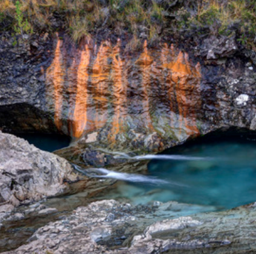
<svg viewBox="0 0 256 254">
<path fill-rule="evenodd" d="M 59 131 L 80 138 L 105 129 L 113 145 L 131 130 L 176 139 L 200 133 L 200 64 L 188 53 L 166 44 L 148 50 L 146 41 L 136 57 L 123 56 L 120 41 L 69 47 L 57 39 L 44 72 Z"/>
</svg>

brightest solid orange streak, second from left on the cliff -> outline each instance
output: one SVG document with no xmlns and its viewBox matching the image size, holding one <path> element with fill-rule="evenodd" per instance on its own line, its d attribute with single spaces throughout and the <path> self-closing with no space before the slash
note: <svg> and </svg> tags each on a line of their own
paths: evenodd
<svg viewBox="0 0 256 254">
<path fill-rule="evenodd" d="M 88 45 L 85 45 L 85 50 L 81 52 L 80 64 L 77 68 L 77 92 L 72 125 L 73 136 L 76 138 L 82 135 L 87 126 L 87 68 L 89 64 L 90 50 Z"/>
</svg>

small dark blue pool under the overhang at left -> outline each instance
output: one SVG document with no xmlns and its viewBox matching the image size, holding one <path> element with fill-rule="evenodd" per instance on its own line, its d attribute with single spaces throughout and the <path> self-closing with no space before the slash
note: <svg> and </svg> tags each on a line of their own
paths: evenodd
<svg viewBox="0 0 256 254">
<path fill-rule="evenodd" d="M 25 133 L 16 134 L 18 137 L 24 138 L 28 143 L 36 146 L 37 148 L 53 152 L 57 149 L 65 148 L 70 145 L 70 137 L 59 134 L 38 134 L 38 133 Z"/>
</svg>

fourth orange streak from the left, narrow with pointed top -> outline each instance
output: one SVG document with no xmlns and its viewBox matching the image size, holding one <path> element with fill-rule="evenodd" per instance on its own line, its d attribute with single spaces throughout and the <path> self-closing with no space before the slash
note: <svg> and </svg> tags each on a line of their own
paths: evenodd
<svg viewBox="0 0 256 254">
<path fill-rule="evenodd" d="M 124 71 L 125 60 L 120 57 L 120 40 L 117 41 L 116 47 L 113 48 L 113 105 L 114 116 L 112 123 L 111 136 L 116 137 L 123 128 L 123 117 L 125 117 L 126 109 L 126 75 Z"/>
</svg>

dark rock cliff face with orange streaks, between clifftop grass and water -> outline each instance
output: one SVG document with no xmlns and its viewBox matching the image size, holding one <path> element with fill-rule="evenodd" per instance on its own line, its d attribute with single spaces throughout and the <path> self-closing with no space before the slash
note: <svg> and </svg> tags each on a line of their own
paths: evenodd
<svg viewBox="0 0 256 254">
<path fill-rule="evenodd" d="M 234 39 L 185 48 L 145 41 L 136 53 L 125 43 L 76 46 L 44 34 L 13 46 L 1 36 L 3 131 L 61 132 L 80 152 L 157 152 L 218 128 L 256 128 L 254 59 Z"/>
</svg>

